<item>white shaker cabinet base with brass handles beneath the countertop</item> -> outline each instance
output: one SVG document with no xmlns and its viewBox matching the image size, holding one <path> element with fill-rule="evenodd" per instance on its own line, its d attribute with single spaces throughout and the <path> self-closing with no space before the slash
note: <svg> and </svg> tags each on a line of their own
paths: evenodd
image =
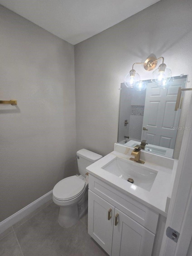
<svg viewBox="0 0 192 256">
<path fill-rule="evenodd" d="M 89 175 L 88 233 L 112 256 L 150 256 L 159 214 Z"/>
</svg>

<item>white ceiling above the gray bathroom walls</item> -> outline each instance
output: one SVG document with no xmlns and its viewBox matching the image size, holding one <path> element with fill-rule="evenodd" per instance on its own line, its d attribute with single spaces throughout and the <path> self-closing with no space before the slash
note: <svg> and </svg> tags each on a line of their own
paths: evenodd
<svg viewBox="0 0 192 256">
<path fill-rule="evenodd" d="M 77 44 L 159 0 L 0 0 L 0 4 Z"/>
</svg>

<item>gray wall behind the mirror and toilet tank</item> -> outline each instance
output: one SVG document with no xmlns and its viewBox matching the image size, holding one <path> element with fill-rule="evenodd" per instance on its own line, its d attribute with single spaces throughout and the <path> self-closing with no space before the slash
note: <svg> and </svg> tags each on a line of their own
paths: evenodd
<svg viewBox="0 0 192 256">
<path fill-rule="evenodd" d="M 162 0 L 75 45 L 77 149 L 101 155 L 113 150 L 120 83 L 134 62 L 144 62 L 151 53 L 164 56 L 173 76 L 189 74 L 192 81 L 191 13 L 191 0 Z M 152 76 L 141 65 L 135 68 L 142 80 Z"/>
</svg>

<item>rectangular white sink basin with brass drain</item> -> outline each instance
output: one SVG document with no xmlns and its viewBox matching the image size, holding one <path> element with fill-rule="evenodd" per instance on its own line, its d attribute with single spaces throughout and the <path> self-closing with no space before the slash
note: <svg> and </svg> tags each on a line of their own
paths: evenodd
<svg viewBox="0 0 192 256">
<path fill-rule="evenodd" d="M 143 166 L 139 167 L 134 164 L 131 164 L 129 160 L 122 160 L 120 158 L 115 158 L 109 164 L 102 167 L 102 169 L 118 176 L 121 179 L 128 180 L 129 178 L 133 179 L 133 184 L 143 188 L 147 191 L 150 191 L 155 181 L 157 173 L 149 168 Z M 130 185 L 131 183 L 128 182 Z"/>
</svg>

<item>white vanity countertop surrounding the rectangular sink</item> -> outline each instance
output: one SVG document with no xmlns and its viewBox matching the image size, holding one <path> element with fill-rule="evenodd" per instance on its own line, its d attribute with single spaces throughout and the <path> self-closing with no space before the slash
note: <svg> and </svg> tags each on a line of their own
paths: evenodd
<svg viewBox="0 0 192 256">
<path fill-rule="evenodd" d="M 129 160 L 130 157 L 131 155 L 125 155 L 113 151 L 98 160 L 97 162 L 91 164 L 86 169 L 91 175 L 97 177 L 98 179 L 101 179 L 102 181 L 118 189 L 122 193 L 127 194 L 138 202 L 143 203 L 154 211 L 167 217 L 167 212 L 165 212 L 165 208 L 167 203 L 167 197 L 170 196 L 171 180 L 173 179 L 171 177 L 172 170 L 156 164 L 152 164 L 150 162 L 145 162 L 145 164 L 143 165 Z M 155 170 L 155 172 L 158 172 L 151 190 L 147 191 L 102 169 L 102 167 L 104 167 L 115 158 L 122 158 L 130 161 L 130 164 L 139 166 L 141 168 L 147 167 Z"/>
</svg>

